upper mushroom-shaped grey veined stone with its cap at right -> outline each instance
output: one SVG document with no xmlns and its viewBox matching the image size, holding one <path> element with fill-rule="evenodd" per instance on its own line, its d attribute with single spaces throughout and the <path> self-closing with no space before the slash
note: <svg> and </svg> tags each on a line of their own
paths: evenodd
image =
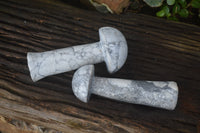
<svg viewBox="0 0 200 133">
<path fill-rule="evenodd" d="M 100 41 L 47 52 L 28 52 L 27 60 L 32 80 L 75 70 L 88 64 L 105 61 L 110 73 L 119 70 L 127 58 L 127 43 L 123 34 L 112 27 L 99 29 Z"/>
</svg>

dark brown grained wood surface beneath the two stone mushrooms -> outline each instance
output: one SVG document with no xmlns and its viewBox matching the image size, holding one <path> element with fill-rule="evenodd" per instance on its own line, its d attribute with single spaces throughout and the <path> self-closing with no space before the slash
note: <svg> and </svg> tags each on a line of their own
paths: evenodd
<svg viewBox="0 0 200 133">
<path fill-rule="evenodd" d="M 108 74 L 101 63 L 95 65 L 96 75 L 176 81 L 179 98 L 174 111 L 95 95 L 82 103 L 71 89 L 74 71 L 32 82 L 27 52 L 96 42 L 102 26 L 119 29 L 129 53 L 118 72 Z M 200 27 L 141 14 L 100 14 L 53 0 L 1 0 L 0 115 L 72 133 L 197 132 Z"/>
</svg>

